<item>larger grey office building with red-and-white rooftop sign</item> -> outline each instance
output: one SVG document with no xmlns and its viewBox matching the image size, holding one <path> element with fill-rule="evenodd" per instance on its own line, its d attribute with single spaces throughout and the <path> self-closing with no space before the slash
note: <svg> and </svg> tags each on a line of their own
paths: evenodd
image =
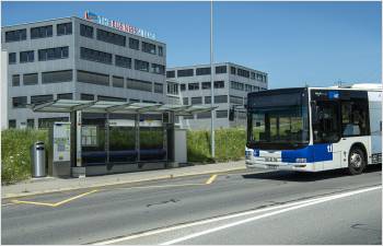
<svg viewBox="0 0 383 246">
<path fill-rule="evenodd" d="M 68 114 L 33 113 L 26 106 L 53 99 L 166 101 L 166 45 L 152 33 L 91 12 L 1 32 L 9 127 L 68 120 Z"/>
</svg>

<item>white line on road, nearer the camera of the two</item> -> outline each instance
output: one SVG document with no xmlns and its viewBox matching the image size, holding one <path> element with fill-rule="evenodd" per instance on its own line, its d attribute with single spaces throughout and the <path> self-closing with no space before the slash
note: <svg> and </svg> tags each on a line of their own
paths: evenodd
<svg viewBox="0 0 383 246">
<path fill-rule="evenodd" d="M 257 216 L 248 218 L 248 219 L 245 219 L 245 220 L 236 221 L 236 222 L 233 222 L 233 223 L 229 223 L 229 224 L 225 224 L 225 225 L 217 226 L 217 227 L 209 229 L 209 230 L 206 230 L 206 231 L 202 231 L 202 232 L 199 232 L 199 233 L 194 233 L 194 234 L 189 234 L 187 236 L 178 237 L 176 239 L 167 241 L 167 242 L 164 242 L 164 243 L 162 243 L 160 245 L 178 244 L 178 243 L 187 241 L 187 239 L 192 239 L 192 238 L 195 238 L 195 237 L 198 237 L 198 236 L 207 235 L 207 234 L 210 234 L 210 233 L 213 233 L 213 232 L 218 232 L 218 231 L 221 231 L 221 230 L 225 230 L 225 229 L 229 229 L 229 227 L 233 227 L 233 226 L 236 226 L 236 225 L 241 225 L 241 224 L 244 224 L 244 223 L 256 221 L 256 220 L 259 220 L 259 219 L 263 219 L 263 218 L 272 216 L 272 215 L 276 215 L 276 214 L 279 214 L 279 213 L 285 213 L 285 212 L 289 212 L 289 211 L 297 210 L 297 209 L 300 209 L 300 208 L 310 207 L 310 206 L 318 204 L 318 203 L 322 203 L 322 202 L 326 202 L 326 201 L 330 201 L 330 200 L 335 200 L 335 199 L 340 199 L 340 198 L 345 198 L 345 197 L 350 197 L 350 196 L 355 196 L 355 195 L 358 195 L 358 194 L 368 192 L 368 191 L 372 191 L 372 190 L 376 190 L 376 189 L 382 189 L 382 186 L 367 188 L 367 189 L 360 189 L 360 190 L 355 190 L 355 191 L 349 191 L 349 192 L 344 192 L 344 194 L 339 194 L 339 195 L 327 196 L 327 197 L 324 197 L 324 198 L 322 198 L 320 200 L 316 200 L 316 201 L 311 201 L 311 202 L 306 202 L 306 203 L 303 203 L 303 204 L 293 206 L 293 207 L 281 209 L 281 210 L 278 210 L 278 211 L 274 211 L 274 212 L 260 214 L 260 215 L 257 215 Z"/>
</svg>

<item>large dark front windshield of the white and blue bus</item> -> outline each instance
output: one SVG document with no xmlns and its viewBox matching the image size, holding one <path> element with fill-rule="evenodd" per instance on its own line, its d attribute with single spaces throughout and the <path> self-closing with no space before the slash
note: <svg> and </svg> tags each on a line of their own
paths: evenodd
<svg viewBox="0 0 383 246">
<path fill-rule="evenodd" d="M 309 114 L 304 95 L 302 91 L 280 95 L 264 93 L 249 99 L 247 145 L 281 150 L 307 144 Z"/>
</svg>

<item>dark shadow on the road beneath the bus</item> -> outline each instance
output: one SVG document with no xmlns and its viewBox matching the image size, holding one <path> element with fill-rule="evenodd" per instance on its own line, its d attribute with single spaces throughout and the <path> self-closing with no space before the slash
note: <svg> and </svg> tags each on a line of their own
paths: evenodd
<svg viewBox="0 0 383 246">
<path fill-rule="evenodd" d="M 365 173 L 382 172 L 382 165 L 369 165 Z M 363 175 L 363 174 L 362 174 Z M 291 171 L 275 171 L 266 172 L 258 174 L 246 174 L 242 175 L 244 178 L 254 178 L 254 179 L 272 179 L 272 180 L 283 180 L 283 181 L 316 181 L 323 179 L 338 178 L 350 176 L 347 173 L 346 168 L 334 169 L 334 171 L 324 171 L 318 173 L 301 173 L 301 172 L 291 172 Z"/>
</svg>

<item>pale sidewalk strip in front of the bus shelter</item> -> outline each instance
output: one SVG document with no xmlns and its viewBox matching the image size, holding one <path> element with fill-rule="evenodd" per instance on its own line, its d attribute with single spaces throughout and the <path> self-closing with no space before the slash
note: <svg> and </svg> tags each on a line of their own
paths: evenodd
<svg viewBox="0 0 383 246">
<path fill-rule="evenodd" d="M 132 184 L 148 180 L 159 180 L 201 174 L 216 174 L 229 171 L 244 169 L 245 161 L 195 165 L 170 169 L 144 171 L 136 173 L 113 174 L 85 178 L 40 178 L 28 179 L 15 185 L 1 186 L 1 198 L 16 198 L 31 195 L 95 188 L 111 185 Z"/>
</svg>

